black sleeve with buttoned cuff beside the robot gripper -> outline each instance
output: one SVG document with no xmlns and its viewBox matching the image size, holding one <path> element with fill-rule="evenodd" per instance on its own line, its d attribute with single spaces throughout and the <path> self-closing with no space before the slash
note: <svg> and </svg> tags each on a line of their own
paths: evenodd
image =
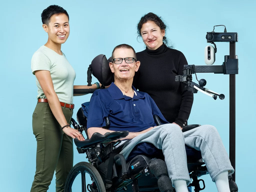
<svg viewBox="0 0 256 192">
<path fill-rule="evenodd" d="M 180 54 L 178 59 L 178 75 L 183 74 L 184 65 L 188 65 L 188 62 L 183 53 Z M 185 84 L 180 82 L 179 91 L 181 92 L 182 102 L 180 105 L 180 110 L 178 117 L 175 119 L 174 123 L 179 126 L 184 127 L 187 125 L 187 120 L 189 118 L 191 108 L 193 105 L 194 95 L 185 89 Z"/>
</svg>

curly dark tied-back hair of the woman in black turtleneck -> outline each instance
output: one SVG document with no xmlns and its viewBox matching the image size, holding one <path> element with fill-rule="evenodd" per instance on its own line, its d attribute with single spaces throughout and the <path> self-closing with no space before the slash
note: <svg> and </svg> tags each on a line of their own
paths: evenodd
<svg viewBox="0 0 256 192">
<path fill-rule="evenodd" d="M 167 26 L 164 24 L 163 20 L 161 19 L 161 17 L 159 17 L 158 15 L 154 14 L 154 13 L 148 13 L 146 15 L 143 15 L 141 17 L 141 20 L 140 22 L 138 23 L 137 25 L 137 39 L 138 37 L 141 37 L 141 28 L 142 28 L 142 25 L 144 23 L 147 23 L 149 21 L 153 21 L 158 27 L 160 27 L 161 30 L 165 30 L 165 34 L 166 34 L 166 28 Z M 165 45 L 168 46 L 168 39 L 166 38 L 166 36 L 163 37 L 163 42 L 165 43 Z M 173 46 L 168 46 L 170 48 L 173 48 Z"/>
</svg>

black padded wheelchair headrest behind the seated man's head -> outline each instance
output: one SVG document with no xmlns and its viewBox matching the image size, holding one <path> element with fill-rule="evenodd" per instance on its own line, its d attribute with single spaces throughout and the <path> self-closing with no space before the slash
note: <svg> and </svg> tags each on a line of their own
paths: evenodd
<svg viewBox="0 0 256 192">
<path fill-rule="evenodd" d="M 108 60 L 105 55 L 101 54 L 95 57 L 91 63 L 93 76 L 96 77 L 103 86 L 109 86 L 114 82 L 114 74 L 110 70 L 109 62 L 111 62 L 111 57 Z"/>
</svg>

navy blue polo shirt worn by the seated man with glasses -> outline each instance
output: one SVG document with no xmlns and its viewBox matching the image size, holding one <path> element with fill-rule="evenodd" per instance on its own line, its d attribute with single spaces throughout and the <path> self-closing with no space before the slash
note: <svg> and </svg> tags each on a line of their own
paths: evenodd
<svg viewBox="0 0 256 192">
<path fill-rule="evenodd" d="M 134 96 L 128 97 L 114 84 L 108 89 L 99 89 L 92 94 L 87 118 L 87 129 L 106 126 L 109 117 L 109 130 L 140 132 L 156 126 L 153 115 L 158 115 L 162 124 L 169 123 L 153 99 L 133 86 Z"/>
</svg>

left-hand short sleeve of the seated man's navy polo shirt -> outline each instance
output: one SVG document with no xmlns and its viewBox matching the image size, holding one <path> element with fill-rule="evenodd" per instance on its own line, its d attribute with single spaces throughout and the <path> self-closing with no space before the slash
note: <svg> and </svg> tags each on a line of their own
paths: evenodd
<svg viewBox="0 0 256 192">
<path fill-rule="evenodd" d="M 99 95 L 91 97 L 87 118 L 87 129 L 90 127 L 106 126 L 105 118 L 108 116 Z"/>
</svg>

